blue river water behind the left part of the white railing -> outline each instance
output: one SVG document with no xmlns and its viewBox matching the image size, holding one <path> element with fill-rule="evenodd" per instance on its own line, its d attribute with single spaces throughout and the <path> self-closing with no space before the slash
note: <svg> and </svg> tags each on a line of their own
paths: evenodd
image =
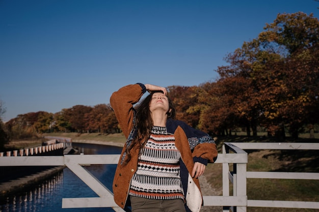
<svg viewBox="0 0 319 212">
<path fill-rule="evenodd" d="M 122 147 L 73 143 L 85 155 L 120 154 Z M 116 165 L 85 166 L 102 184 L 112 191 Z M 112 208 L 62 208 L 62 198 L 98 197 L 81 179 L 68 168 L 52 175 L 42 184 L 30 190 L 8 197 L 0 203 L 0 212 L 99 212 L 114 211 Z"/>
</svg>

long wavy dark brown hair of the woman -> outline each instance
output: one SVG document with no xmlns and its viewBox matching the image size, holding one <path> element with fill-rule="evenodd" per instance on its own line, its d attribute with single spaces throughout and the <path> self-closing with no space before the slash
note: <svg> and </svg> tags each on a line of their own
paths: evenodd
<svg viewBox="0 0 319 212">
<path fill-rule="evenodd" d="M 155 90 L 150 95 L 148 95 L 137 107 L 136 107 L 136 123 L 135 123 L 135 129 L 136 129 L 136 136 L 132 140 L 131 144 L 126 148 L 126 159 L 124 161 L 124 165 L 127 164 L 130 159 L 132 158 L 130 154 L 130 150 L 137 146 L 139 148 L 142 148 L 147 139 L 149 138 L 152 128 L 153 128 L 153 119 L 151 116 L 151 111 L 149 109 L 149 104 L 152 99 L 153 94 L 155 93 L 163 93 L 161 90 Z M 168 98 L 169 103 L 169 109 L 167 112 L 168 118 L 175 119 L 176 110 L 174 107 L 174 103 L 172 100 Z"/>
</svg>

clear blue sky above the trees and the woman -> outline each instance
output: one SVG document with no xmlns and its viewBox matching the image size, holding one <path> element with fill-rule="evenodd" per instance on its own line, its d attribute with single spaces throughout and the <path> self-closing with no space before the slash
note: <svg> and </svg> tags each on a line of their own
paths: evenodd
<svg viewBox="0 0 319 212">
<path fill-rule="evenodd" d="M 108 104 L 136 82 L 199 85 L 278 13 L 314 0 L 0 0 L 0 100 L 18 114 Z"/>
</svg>

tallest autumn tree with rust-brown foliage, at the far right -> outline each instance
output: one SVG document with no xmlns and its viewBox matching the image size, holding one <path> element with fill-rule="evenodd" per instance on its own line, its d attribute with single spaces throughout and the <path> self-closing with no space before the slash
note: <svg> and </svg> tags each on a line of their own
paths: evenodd
<svg viewBox="0 0 319 212">
<path fill-rule="evenodd" d="M 312 14 L 279 14 L 258 38 L 226 57 L 229 66 L 217 70 L 224 81 L 245 80 L 245 93 L 240 86 L 230 92 L 235 92 L 233 107 L 252 126 L 258 121 L 282 137 L 287 127 L 296 138 L 309 122 L 307 111 L 318 104 L 318 26 Z"/>
</svg>

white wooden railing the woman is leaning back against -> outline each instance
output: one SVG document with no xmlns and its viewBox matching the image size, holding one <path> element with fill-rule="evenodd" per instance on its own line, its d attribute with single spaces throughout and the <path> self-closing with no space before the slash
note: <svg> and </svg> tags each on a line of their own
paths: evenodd
<svg viewBox="0 0 319 212">
<path fill-rule="evenodd" d="M 248 155 L 243 149 L 319 149 L 317 143 L 224 143 L 223 153 L 215 163 L 223 164 L 223 195 L 203 196 L 204 206 L 223 206 L 223 211 L 247 211 L 247 207 L 295 207 L 319 209 L 319 202 L 248 200 L 247 178 L 319 179 L 319 173 L 248 172 Z M 64 155 L 1 157 L 0 166 L 67 166 L 99 197 L 63 198 L 62 208 L 118 207 L 112 192 L 94 177 L 84 165 L 117 164 L 119 155 Z M 230 170 L 233 165 L 233 170 Z M 232 183 L 233 194 L 229 194 Z"/>
</svg>

